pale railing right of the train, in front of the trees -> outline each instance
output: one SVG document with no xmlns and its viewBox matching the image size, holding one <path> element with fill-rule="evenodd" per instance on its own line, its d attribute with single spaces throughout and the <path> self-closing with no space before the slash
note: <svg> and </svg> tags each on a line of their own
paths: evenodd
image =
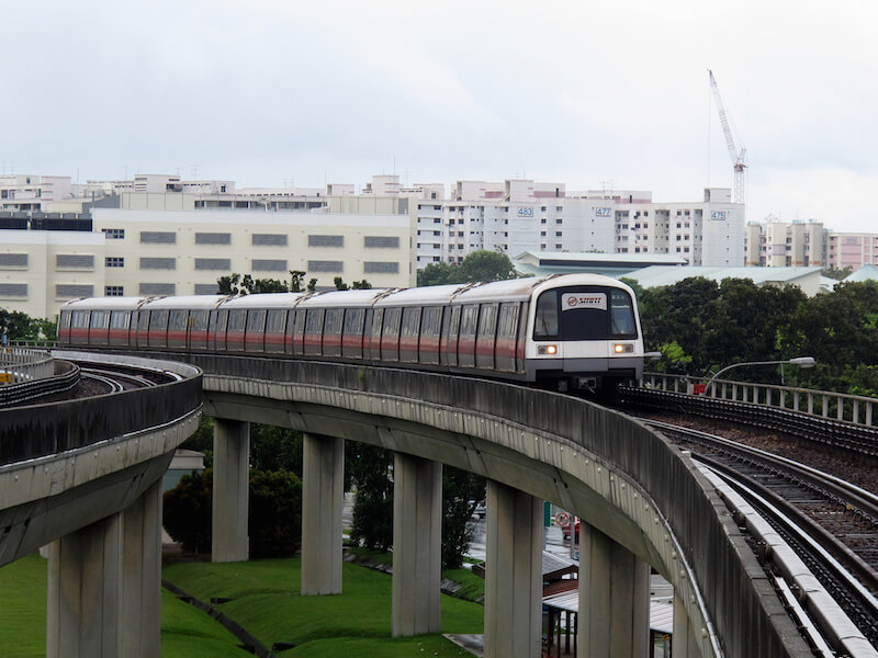
<svg viewBox="0 0 878 658">
<path fill-rule="evenodd" d="M 863 428 L 876 428 L 878 424 L 878 413 L 876 413 L 878 399 L 859 395 L 728 379 L 714 379 L 710 385 L 706 385 L 706 381 L 699 377 L 660 373 L 643 373 L 639 386 L 652 390 L 807 413 Z"/>
</svg>

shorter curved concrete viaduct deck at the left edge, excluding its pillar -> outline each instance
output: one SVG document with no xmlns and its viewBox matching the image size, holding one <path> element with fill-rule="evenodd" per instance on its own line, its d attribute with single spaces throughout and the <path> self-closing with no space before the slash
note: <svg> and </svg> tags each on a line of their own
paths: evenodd
<svg viewBox="0 0 878 658">
<path fill-rule="evenodd" d="M 201 417 L 196 367 L 55 355 L 122 374 L 115 393 L 0 410 L 0 566 L 128 507 L 162 476 Z M 149 379 L 165 373 L 164 383 L 135 388 L 130 368 Z"/>
</svg>

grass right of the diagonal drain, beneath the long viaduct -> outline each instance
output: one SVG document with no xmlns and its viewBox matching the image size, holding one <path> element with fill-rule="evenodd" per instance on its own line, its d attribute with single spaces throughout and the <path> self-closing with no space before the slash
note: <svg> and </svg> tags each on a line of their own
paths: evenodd
<svg viewBox="0 0 878 658">
<path fill-rule="evenodd" d="M 384 574 L 345 564 L 335 597 L 300 597 L 299 559 L 171 565 L 165 578 L 218 608 L 267 646 L 296 645 L 283 656 L 466 656 L 441 636 L 391 638 L 391 583 Z M 442 597 L 443 633 L 482 633 L 484 609 Z"/>
</svg>

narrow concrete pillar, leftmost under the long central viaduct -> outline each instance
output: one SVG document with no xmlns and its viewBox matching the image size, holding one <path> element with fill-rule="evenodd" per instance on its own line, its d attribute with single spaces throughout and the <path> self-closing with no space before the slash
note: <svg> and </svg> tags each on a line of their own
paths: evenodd
<svg viewBox="0 0 878 658">
<path fill-rule="evenodd" d="M 212 561 L 250 557 L 250 423 L 215 418 L 213 426 Z"/>
</svg>

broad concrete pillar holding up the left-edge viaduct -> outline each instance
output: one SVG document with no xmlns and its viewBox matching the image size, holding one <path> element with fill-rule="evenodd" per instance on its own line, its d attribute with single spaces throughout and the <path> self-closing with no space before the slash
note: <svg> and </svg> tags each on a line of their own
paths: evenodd
<svg viewBox="0 0 878 658">
<path fill-rule="evenodd" d="M 48 658 L 159 658 L 161 480 L 48 547 Z"/>
</svg>

